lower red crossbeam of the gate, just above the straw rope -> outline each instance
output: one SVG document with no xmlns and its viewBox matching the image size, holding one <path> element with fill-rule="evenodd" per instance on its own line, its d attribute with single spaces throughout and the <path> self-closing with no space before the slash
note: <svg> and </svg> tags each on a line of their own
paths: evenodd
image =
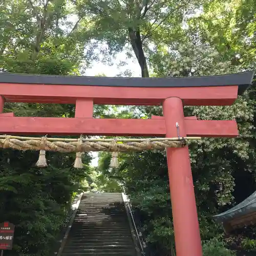
<svg viewBox="0 0 256 256">
<path fill-rule="evenodd" d="M 187 136 L 237 137 L 234 120 L 185 120 Z M 164 119 L 0 116 L 0 134 L 165 136 Z"/>
</svg>

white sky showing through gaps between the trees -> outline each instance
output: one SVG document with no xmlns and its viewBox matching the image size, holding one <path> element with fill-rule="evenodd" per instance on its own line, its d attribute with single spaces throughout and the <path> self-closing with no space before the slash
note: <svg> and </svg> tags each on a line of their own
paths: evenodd
<svg viewBox="0 0 256 256">
<path fill-rule="evenodd" d="M 122 61 L 126 61 L 127 65 L 123 67 L 118 67 L 118 63 Z M 113 77 L 119 74 L 120 72 L 124 72 L 127 69 L 132 71 L 133 77 L 141 77 L 141 70 L 137 60 L 134 59 L 126 59 L 125 52 L 121 52 L 117 54 L 116 58 L 113 59 L 113 66 L 104 65 L 101 62 L 94 61 L 92 63 L 92 67 L 86 70 L 86 76 L 96 76 L 97 74 L 104 73 L 106 76 Z M 91 162 L 92 166 L 98 166 L 98 153 L 92 152 L 91 155 L 93 156 L 93 160 Z"/>
</svg>

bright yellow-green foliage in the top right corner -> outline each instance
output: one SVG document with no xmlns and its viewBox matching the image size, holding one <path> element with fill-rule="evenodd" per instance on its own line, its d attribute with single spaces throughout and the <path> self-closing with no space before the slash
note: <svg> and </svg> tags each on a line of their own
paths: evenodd
<svg viewBox="0 0 256 256">
<path fill-rule="evenodd" d="M 255 1 L 205 1 L 203 10 L 199 17 L 190 19 L 191 32 L 216 47 L 223 57 L 231 60 L 233 66 L 255 68 Z"/>
</svg>

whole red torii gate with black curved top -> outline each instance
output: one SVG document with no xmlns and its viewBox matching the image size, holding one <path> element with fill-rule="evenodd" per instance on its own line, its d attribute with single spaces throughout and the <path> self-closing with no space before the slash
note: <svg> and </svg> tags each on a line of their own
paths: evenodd
<svg viewBox="0 0 256 256">
<path fill-rule="evenodd" d="M 184 117 L 183 105 L 231 105 L 253 72 L 182 78 L 109 78 L 0 74 L 0 133 L 237 137 L 235 120 Z M 4 102 L 75 104 L 75 118 L 14 117 Z M 94 104 L 163 105 L 164 117 L 95 119 Z M 178 124 L 177 124 L 178 123 Z M 168 148 L 167 163 L 177 256 L 201 256 L 188 147 Z"/>
</svg>

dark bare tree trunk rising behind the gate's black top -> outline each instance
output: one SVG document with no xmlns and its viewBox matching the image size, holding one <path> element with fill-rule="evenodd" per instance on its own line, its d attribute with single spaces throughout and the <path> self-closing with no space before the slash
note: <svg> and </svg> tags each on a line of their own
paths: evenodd
<svg viewBox="0 0 256 256">
<path fill-rule="evenodd" d="M 134 29 L 129 28 L 129 37 L 131 40 L 133 51 L 136 55 L 136 58 L 139 62 L 140 68 L 141 68 L 141 76 L 142 77 L 150 77 L 150 75 L 148 74 L 146 57 L 145 57 L 143 47 L 142 47 L 140 29 L 138 28 L 137 30 L 134 30 Z"/>
</svg>

